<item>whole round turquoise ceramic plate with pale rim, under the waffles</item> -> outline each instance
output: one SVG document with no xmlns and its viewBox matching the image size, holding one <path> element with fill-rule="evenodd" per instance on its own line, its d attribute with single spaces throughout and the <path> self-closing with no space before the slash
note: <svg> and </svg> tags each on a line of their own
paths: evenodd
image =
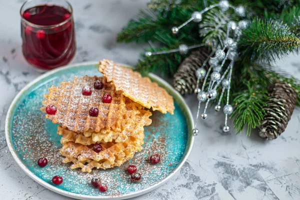
<svg viewBox="0 0 300 200">
<path fill-rule="evenodd" d="M 170 178 L 186 160 L 192 147 L 192 116 L 184 100 L 168 83 L 156 75 L 149 74 L 152 81 L 164 87 L 174 98 L 174 114 L 154 111 L 152 124 L 145 127 L 143 150 L 120 167 L 95 169 L 91 173 L 70 169 L 62 163 L 60 135 L 57 124 L 45 119 L 39 108 L 43 95 L 51 85 L 62 80 L 72 80 L 82 75 L 101 75 L 96 62 L 80 63 L 49 71 L 25 86 L 12 101 L 6 121 L 5 134 L 9 150 L 18 165 L 36 182 L 62 195 L 80 199 L 123 199 L 146 193 Z M 161 155 L 159 164 L 153 165 L 147 157 L 153 152 Z M 48 159 L 47 166 L 36 164 L 39 157 Z M 142 174 L 138 183 L 130 181 L 124 167 L 135 164 Z M 60 185 L 54 185 L 54 175 L 63 177 Z M 100 192 L 90 184 L 92 177 L 100 177 L 107 183 L 108 190 Z"/>
</svg>

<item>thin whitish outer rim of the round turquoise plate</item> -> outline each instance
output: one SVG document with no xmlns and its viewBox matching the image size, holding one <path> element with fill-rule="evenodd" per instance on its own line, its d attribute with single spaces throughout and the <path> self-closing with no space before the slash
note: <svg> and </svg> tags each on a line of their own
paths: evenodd
<svg viewBox="0 0 300 200">
<path fill-rule="evenodd" d="M 12 107 L 14 106 L 15 102 L 19 99 L 19 97 L 22 95 L 22 93 L 27 90 L 30 86 L 32 86 L 34 83 L 38 82 L 39 80 L 47 77 L 48 75 L 51 75 L 53 73 L 56 73 L 57 71 L 63 70 L 63 69 L 67 69 L 67 68 L 72 68 L 72 67 L 76 67 L 76 66 L 81 66 L 81 65 L 90 65 L 90 64 L 96 64 L 98 63 L 98 61 L 87 61 L 87 62 L 80 62 L 80 63 L 75 63 L 75 64 L 68 64 L 66 66 L 61 66 L 58 67 L 56 69 L 52 69 L 48 72 L 45 72 L 44 74 L 41 74 L 40 76 L 36 77 L 35 79 L 33 79 L 31 82 L 29 82 L 26 86 L 24 86 L 17 94 L 16 96 L 13 98 L 7 114 L 6 114 L 6 118 L 5 118 L 5 138 L 6 138 L 6 143 L 8 146 L 8 149 L 13 157 L 13 159 L 16 161 L 16 163 L 21 167 L 21 169 L 27 174 L 29 175 L 29 177 L 31 177 L 34 181 L 36 181 L 37 183 L 41 184 L 42 186 L 46 187 L 47 189 L 50 189 L 56 193 L 59 193 L 61 195 L 64 196 L 68 196 L 68 197 L 73 197 L 73 198 L 77 198 L 77 199 L 125 199 L 125 198 L 130 198 L 130 197 L 135 197 L 135 196 L 139 196 L 142 194 L 145 194 L 149 191 L 152 191 L 153 189 L 159 187 L 162 183 L 164 183 L 165 181 L 167 181 L 170 177 L 172 177 L 183 165 L 183 163 L 185 162 L 185 160 L 187 159 L 193 142 L 194 142 L 194 135 L 191 135 L 191 141 L 190 141 L 190 145 L 188 146 L 187 150 L 186 150 L 186 154 L 185 156 L 182 158 L 181 162 L 179 163 L 179 165 L 170 173 L 168 174 L 165 178 L 163 178 L 162 180 L 160 180 L 159 182 L 156 182 L 155 184 L 151 185 L 150 187 L 132 192 L 132 193 L 127 193 L 127 194 L 123 194 L 120 196 L 89 196 L 89 195 L 83 195 L 83 194 L 77 194 L 77 193 L 73 193 L 73 192 L 69 192 L 69 191 L 65 191 L 62 189 L 59 189 L 49 183 L 47 183 L 46 181 L 42 180 L 41 178 L 37 177 L 36 175 L 34 175 L 24 164 L 23 162 L 19 159 L 19 157 L 17 156 L 16 152 L 14 151 L 14 148 L 12 147 L 12 144 L 10 142 L 10 138 L 8 135 L 8 121 L 9 121 L 9 115 L 11 113 Z M 128 64 L 123 64 L 123 63 L 118 63 L 120 65 L 126 66 L 126 67 L 132 67 Z M 165 80 L 163 80 L 162 78 L 160 78 L 159 76 L 153 74 L 153 73 L 149 73 L 148 74 L 149 77 L 153 77 L 155 79 L 158 79 L 160 82 L 163 83 L 163 85 L 165 87 L 167 87 L 169 90 L 172 90 L 174 93 L 176 93 L 176 95 L 178 96 L 178 98 L 183 102 L 183 106 L 185 108 L 185 110 L 187 110 L 186 115 L 190 118 L 191 123 L 194 124 L 193 121 L 193 117 L 191 114 L 191 111 L 189 109 L 189 107 L 187 106 L 185 100 L 183 99 L 183 97 L 179 94 L 179 92 L 177 92 L 168 82 L 166 82 Z"/>
</svg>

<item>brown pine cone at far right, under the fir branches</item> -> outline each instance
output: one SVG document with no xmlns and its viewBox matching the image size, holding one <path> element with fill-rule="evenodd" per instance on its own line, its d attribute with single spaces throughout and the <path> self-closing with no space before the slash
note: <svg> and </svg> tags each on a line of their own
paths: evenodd
<svg viewBox="0 0 300 200">
<path fill-rule="evenodd" d="M 264 107 L 265 115 L 259 127 L 259 136 L 275 139 L 280 135 L 290 119 L 297 102 L 294 88 L 283 82 L 275 82 L 267 87 L 268 101 Z"/>
</svg>

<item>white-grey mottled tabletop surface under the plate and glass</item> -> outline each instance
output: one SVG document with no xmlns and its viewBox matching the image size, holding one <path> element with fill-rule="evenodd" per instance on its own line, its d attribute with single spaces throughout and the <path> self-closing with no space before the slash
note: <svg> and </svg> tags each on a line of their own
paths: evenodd
<svg viewBox="0 0 300 200">
<path fill-rule="evenodd" d="M 0 0 L 0 196 L 1 199 L 70 199 L 29 178 L 14 162 L 4 140 L 4 118 L 14 95 L 40 73 L 21 54 L 19 8 L 23 0 Z M 116 33 L 146 0 L 70 0 L 74 8 L 77 53 L 72 62 L 113 59 L 134 64 L 142 45 L 117 44 Z M 300 78 L 300 56 L 279 67 Z M 195 115 L 194 96 L 186 98 Z M 219 115 L 219 116 L 218 116 Z M 211 112 L 200 126 L 183 167 L 158 189 L 134 199 L 300 199 L 300 112 L 284 133 L 264 141 L 253 130 L 222 133 L 223 114 Z"/>
</svg>

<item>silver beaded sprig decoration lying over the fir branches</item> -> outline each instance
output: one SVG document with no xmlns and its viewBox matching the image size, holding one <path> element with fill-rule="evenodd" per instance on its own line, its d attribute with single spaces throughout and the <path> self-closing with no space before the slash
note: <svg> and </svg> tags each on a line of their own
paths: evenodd
<svg viewBox="0 0 300 200">
<path fill-rule="evenodd" d="M 182 23 L 179 26 L 174 26 L 171 28 L 172 33 L 176 34 L 179 32 L 180 28 L 185 26 L 191 21 L 200 22 L 202 20 L 202 14 L 206 11 L 219 7 L 223 12 L 229 8 L 233 8 L 234 12 L 239 16 L 245 16 L 245 9 L 243 6 L 233 6 L 230 5 L 227 0 L 221 0 L 219 3 L 212 4 L 201 11 L 194 11 L 191 14 L 191 17 Z M 196 120 L 194 124 L 194 128 L 192 129 L 192 133 L 197 135 L 199 130 L 197 129 L 197 121 L 199 115 L 202 119 L 206 119 L 208 117 L 206 110 L 209 103 L 217 97 L 217 92 L 221 91 L 219 95 L 219 99 L 216 100 L 216 105 L 214 106 L 215 111 L 219 111 L 221 107 L 221 101 L 226 93 L 226 104 L 223 106 L 223 112 L 225 114 L 225 122 L 223 126 L 223 131 L 228 132 L 229 126 L 227 125 L 228 116 L 233 112 L 233 106 L 229 104 L 229 94 L 231 87 L 231 78 L 232 71 L 234 66 L 234 60 L 236 59 L 237 52 L 237 42 L 241 35 L 241 30 L 246 28 L 248 25 L 248 21 L 240 20 L 240 21 L 229 21 L 226 31 L 225 39 L 220 40 L 219 43 L 214 43 L 212 49 L 214 49 L 206 60 L 202 63 L 202 66 L 196 70 L 197 77 L 197 86 L 194 90 L 194 93 L 197 94 L 198 99 L 198 109 L 196 114 Z M 193 46 L 187 46 L 185 44 L 179 45 L 177 49 L 172 49 L 168 51 L 156 51 L 156 52 L 146 52 L 145 55 L 151 56 L 155 54 L 163 54 L 170 52 L 180 52 L 181 54 L 186 54 L 189 49 L 197 48 L 203 46 L 204 44 L 197 44 Z M 227 62 L 226 62 L 227 61 Z M 206 71 L 205 66 L 209 63 L 209 68 Z M 209 81 L 208 81 L 209 77 Z M 203 79 L 203 83 L 200 86 L 200 80 Z M 204 104 L 204 110 L 200 114 L 201 104 Z"/>
</svg>

